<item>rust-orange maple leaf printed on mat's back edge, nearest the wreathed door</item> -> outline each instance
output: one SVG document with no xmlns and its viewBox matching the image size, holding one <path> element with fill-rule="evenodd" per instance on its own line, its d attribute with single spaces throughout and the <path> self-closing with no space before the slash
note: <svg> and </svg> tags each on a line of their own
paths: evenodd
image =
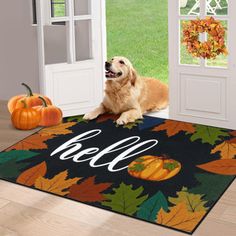
<svg viewBox="0 0 236 236">
<path fill-rule="evenodd" d="M 153 131 L 162 131 L 162 130 L 166 130 L 167 136 L 171 137 L 178 134 L 181 131 L 194 133 L 195 127 L 193 126 L 193 124 L 186 122 L 166 120 L 164 124 L 156 126 L 153 129 Z"/>
</svg>

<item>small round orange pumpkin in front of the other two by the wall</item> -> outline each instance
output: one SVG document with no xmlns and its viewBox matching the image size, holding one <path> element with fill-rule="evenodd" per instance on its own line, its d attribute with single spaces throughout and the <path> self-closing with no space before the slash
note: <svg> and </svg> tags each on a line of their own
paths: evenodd
<svg viewBox="0 0 236 236">
<path fill-rule="evenodd" d="M 11 114 L 11 121 L 15 128 L 21 130 L 34 129 L 39 125 L 40 112 L 32 107 L 27 107 L 26 102 L 22 101 L 23 108 L 15 109 Z"/>
</svg>

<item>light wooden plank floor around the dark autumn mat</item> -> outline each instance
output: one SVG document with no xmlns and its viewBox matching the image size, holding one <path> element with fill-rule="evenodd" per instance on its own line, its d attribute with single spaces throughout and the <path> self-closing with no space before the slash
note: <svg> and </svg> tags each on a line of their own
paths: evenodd
<svg viewBox="0 0 236 236">
<path fill-rule="evenodd" d="M 7 148 L 30 133 L 17 131 L 11 127 L 6 105 L 0 102 L 0 149 Z M 0 235 L 183 236 L 186 234 L 0 181 Z M 236 181 L 193 235 L 236 235 Z"/>
</svg>

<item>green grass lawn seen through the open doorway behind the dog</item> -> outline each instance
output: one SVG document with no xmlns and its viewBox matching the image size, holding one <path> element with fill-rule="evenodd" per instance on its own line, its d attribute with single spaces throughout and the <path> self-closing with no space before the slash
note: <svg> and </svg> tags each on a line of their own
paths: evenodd
<svg viewBox="0 0 236 236">
<path fill-rule="evenodd" d="M 138 73 L 168 82 L 167 0 L 106 0 L 108 58 L 125 56 Z"/>
</svg>

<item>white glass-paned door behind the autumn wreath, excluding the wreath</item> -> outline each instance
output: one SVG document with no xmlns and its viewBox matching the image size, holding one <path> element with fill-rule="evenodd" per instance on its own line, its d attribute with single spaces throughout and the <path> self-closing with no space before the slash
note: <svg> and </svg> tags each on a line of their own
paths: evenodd
<svg viewBox="0 0 236 236">
<path fill-rule="evenodd" d="M 170 118 L 236 129 L 236 1 L 181 2 L 169 0 Z M 197 59 L 182 45 L 182 22 L 206 16 L 227 27 L 228 56 Z"/>
</svg>

